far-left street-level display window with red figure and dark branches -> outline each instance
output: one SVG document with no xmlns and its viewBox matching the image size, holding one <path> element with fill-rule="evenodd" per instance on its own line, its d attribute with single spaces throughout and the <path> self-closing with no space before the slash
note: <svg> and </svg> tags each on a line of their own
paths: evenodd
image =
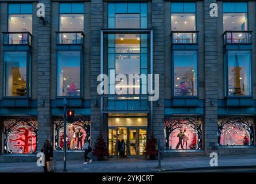
<svg viewBox="0 0 256 184">
<path fill-rule="evenodd" d="M 10 119 L 4 124 L 4 151 L 7 154 L 33 154 L 37 146 L 37 120 Z"/>
</svg>

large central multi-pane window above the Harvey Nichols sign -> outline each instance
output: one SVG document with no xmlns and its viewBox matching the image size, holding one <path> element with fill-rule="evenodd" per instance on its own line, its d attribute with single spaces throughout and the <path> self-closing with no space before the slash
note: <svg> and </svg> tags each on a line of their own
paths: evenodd
<svg viewBox="0 0 256 184">
<path fill-rule="evenodd" d="M 146 79 L 135 75 L 148 74 L 148 60 L 148 34 L 108 34 L 108 75 L 121 76 L 110 79 L 110 94 L 146 94 Z"/>
</svg>

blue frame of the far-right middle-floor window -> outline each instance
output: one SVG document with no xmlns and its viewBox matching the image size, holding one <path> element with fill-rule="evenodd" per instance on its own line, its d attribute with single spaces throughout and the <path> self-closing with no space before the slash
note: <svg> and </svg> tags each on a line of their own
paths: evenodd
<svg viewBox="0 0 256 184">
<path fill-rule="evenodd" d="M 250 49 L 228 49 L 224 52 L 224 96 L 226 98 L 253 98 L 253 86 L 250 82 L 250 95 L 229 95 L 228 94 L 228 52 L 229 51 L 249 51 L 250 53 L 250 81 L 253 79 L 253 68 L 252 68 L 252 50 Z"/>
</svg>

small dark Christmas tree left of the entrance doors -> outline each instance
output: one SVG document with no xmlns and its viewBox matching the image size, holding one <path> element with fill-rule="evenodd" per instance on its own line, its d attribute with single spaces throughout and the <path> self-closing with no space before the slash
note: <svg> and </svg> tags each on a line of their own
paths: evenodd
<svg viewBox="0 0 256 184">
<path fill-rule="evenodd" d="M 107 144 L 102 136 L 102 133 L 100 133 L 99 137 L 96 140 L 92 155 L 96 156 L 97 160 L 103 160 L 104 156 L 108 155 Z"/>
</svg>

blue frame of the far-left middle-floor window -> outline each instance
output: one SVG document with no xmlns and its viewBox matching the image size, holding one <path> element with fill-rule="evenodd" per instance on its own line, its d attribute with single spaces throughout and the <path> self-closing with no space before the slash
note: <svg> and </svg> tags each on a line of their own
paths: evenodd
<svg viewBox="0 0 256 184">
<path fill-rule="evenodd" d="M 26 60 L 26 95 L 24 96 L 7 96 L 6 95 L 6 62 L 5 62 L 5 53 L 6 52 L 24 52 L 27 55 L 27 60 Z M 30 60 L 29 60 L 30 57 Z M 12 98 L 20 98 L 20 99 L 31 99 L 31 94 L 32 94 L 32 53 L 31 51 L 23 51 L 23 50 L 18 50 L 18 51 L 3 51 L 2 55 L 3 59 L 3 69 L 2 69 L 2 82 L 3 82 L 3 88 L 2 88 L 2 93 L 3 93 L 3 99 L 12 99 Z"/>
</svg>

